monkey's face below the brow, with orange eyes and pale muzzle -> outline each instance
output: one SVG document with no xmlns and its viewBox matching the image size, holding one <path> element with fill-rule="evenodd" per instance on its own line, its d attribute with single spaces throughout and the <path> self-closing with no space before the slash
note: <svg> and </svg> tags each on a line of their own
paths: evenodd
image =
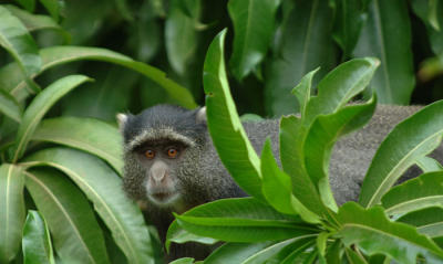
<svg viewBox="0 0 443 264">
<path fill-rule="evenodd" d="M 186 148 L 179 141 L 156 141 L 146 142 L 136 150 L 145 173 L 142 184 L 146 197 L 158 207 L 176 205 L 181 199 L 178 176 Z"/>
</svg>

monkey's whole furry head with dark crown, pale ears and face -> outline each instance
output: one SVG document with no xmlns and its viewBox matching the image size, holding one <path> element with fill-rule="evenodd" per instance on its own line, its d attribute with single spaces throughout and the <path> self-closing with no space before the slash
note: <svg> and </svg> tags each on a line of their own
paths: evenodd
<svg viewBox="0 0 443 264">
<path fill-rule="evenodd" d="M 157 105 L 138 115 L 119 114 L 117 122 L 124 140 L 126 193 L 159 208 L 183 207 L 207 140 L 206 109 Z"/>
</svg>

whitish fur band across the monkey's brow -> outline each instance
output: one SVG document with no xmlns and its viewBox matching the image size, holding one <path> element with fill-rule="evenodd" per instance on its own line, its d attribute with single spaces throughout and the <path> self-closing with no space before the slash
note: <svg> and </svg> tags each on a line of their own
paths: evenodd
<svg viewBox="0 0 443 264">
<path fill-rule="evenodd" d="M 195 141 L 189 139 L 188 137 L 185 137 L 169 127 L 165 128 L 158 128 L 158 129 L 148 129 L 140 134 L 138 136 L 134 137 L 128 144 L 127 144 L 127 150 L 134 150 L 134 148 L 138 147 L 145 141 L 155 141 L 158 139 L 169 139 L 173 141 L 182 141 L 185 145 L 188 145 L 190 147 L 195 146 Z"/>
</svg>

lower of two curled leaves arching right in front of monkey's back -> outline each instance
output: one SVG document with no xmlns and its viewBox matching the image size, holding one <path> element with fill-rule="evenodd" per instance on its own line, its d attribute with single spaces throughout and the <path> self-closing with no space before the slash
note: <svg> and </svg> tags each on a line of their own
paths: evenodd
<svg viewBox="0 0 443 264">
<path fill-rule="evenodd" d="M 340 136 L 362 127 L 371 119 L 377 99 L 367 104 L 347 106 L 334 114 L 320 115 L 309 128 L 305 140 L 306 169 L 324 204 L 337 212 L 337 203 L 329 184 L 329 161 L 334 142 Z"/>
</svg>

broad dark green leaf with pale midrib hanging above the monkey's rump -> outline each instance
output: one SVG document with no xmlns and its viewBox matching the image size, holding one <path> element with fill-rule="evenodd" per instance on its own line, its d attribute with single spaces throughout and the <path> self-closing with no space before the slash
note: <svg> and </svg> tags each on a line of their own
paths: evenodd
<svg viewBox="0 0 443 264">
<path fill-rule="evenodd" d="M 408 2 L 374 0 L 354 50 L 354 56 L 375 56 L 381 61 L 371 87 L 381 104 L 408 105 L 414 88 L 411 24 Z M 399 45 L 401 43 L 401 45 Z"/>
</svg>

